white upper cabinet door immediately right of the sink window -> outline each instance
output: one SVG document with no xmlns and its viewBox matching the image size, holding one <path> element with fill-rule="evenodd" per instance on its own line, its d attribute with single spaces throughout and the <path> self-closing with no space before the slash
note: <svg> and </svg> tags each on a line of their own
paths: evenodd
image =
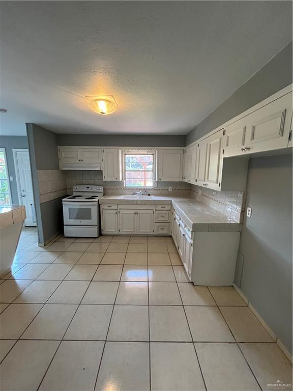
<svg viewBox="0 0 293 391">
<path fill-rule="evenodd" d="M 181 181 L 183 149 L 160 149 L 158 151 L 158 181 Z"/>
</svg>

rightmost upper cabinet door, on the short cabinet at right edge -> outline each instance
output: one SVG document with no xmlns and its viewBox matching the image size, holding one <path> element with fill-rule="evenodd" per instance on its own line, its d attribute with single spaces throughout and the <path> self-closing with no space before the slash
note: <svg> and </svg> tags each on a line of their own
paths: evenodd
<svg viewBox="0 0 293 391">
<path fill-rule="evenodd" d="M 292 114 L 292 93 L 247 116 L 245 146 L 249 153 L 286 148 Z"/>
</svg>

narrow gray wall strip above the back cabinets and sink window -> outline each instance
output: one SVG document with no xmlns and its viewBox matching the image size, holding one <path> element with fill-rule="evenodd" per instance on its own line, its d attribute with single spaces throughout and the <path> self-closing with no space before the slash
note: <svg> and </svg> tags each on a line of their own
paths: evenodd
<svg viewBox="0 0 293 391">
<path fill-rule="evenodd" d="M 58 145 L 103 147 L 184 147 L 185 136 L 57 134 Z"/>
</svg>

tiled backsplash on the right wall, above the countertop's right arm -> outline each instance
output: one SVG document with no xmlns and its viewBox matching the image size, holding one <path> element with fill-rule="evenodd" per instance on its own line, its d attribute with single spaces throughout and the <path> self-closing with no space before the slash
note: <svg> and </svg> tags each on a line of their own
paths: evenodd
<svg viewBox="0 0 293 391">
<path fill-rule="evenodd" d="M 201 191 L 201 194 L 200 194 Z M 233 221 L 242 222 L 245 208 L 245 193 L 238 191 L 216 191 L 191 185 L 191 196 L 197 201 L 225 214 Z"/>
</svg>

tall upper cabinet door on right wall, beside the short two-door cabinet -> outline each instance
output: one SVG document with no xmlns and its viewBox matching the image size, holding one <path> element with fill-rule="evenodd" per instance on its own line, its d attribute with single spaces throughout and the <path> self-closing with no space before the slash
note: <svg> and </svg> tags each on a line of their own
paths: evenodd
<svg viewBox="0 0 293 391">
<path fill-rule="evenodd" d="M 211 184 L 212 188 L 219 188 L 219 174 L 221 163 L 222 150 L 222 134 L 223 131 L 212 134 L 207 138 L 207 169 L 206 169 L 206 183 Z"/>
</svg>

